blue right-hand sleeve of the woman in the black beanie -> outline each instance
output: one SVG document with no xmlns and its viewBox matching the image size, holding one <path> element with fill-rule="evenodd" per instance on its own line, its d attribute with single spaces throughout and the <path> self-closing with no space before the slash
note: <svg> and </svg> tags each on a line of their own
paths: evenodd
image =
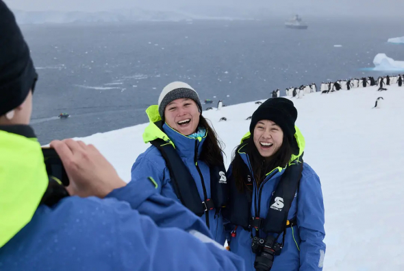
<svg viewBox="0 0 404 271">
<path fill-rule="evenodd" d="M 311 168 L 303 169 L 297 198 L 297 225 L 301 239 L 300 271 L 321 271 L 325 257 L 323 192 L 320 178 Z"/>
</svg>

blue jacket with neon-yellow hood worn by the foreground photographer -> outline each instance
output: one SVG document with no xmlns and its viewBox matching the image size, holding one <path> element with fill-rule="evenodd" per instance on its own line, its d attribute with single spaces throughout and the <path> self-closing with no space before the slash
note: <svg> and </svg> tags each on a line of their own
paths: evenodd
<svg viewBox="0 0 404 271">
<path fill-rule="evenodd" d="M 0 130 L 0 162 L 0 270 L 244 270 L 150 181 L 38 206 L 48 183 L 38 141 Z"/>
</svg>

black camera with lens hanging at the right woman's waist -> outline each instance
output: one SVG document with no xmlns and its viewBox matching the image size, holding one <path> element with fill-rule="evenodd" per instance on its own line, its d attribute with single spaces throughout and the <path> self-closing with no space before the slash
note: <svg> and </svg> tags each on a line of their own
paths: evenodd
<svg viewBox="0 0 404 271">
<path fill-rule="evenodd" d="M 269 271 L 273 266 L 275 255 L 281 254 L 282 246 L 277 243 L 275 237 L 266 239 L 253 237 L 251 250 L 255 253 L 254 268 L 257 271 Z"/>
</svg>

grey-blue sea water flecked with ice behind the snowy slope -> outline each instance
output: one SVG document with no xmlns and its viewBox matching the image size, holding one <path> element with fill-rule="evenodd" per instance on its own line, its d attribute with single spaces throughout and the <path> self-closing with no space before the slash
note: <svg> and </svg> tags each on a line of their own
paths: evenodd
<svg viewBox="0 0 404 271">
<path fill-rule="evenodd" d="M 40 143 L 147 122 L 169 82 L 227 105 L 274 89 L 379 76 L 378 53 L 404 60 L 403 19 L 317 20 L 308 30 L 283 21 L 199 21 L 126 25 L 24 25 L 40 80 L 32 123 Z M 334 47 L 333 45 L 342 45 Z M 212 105 L 204 105 L 207 106 Z M 58 119 L 60 113 L 69 119 Z"/>
</svg>

